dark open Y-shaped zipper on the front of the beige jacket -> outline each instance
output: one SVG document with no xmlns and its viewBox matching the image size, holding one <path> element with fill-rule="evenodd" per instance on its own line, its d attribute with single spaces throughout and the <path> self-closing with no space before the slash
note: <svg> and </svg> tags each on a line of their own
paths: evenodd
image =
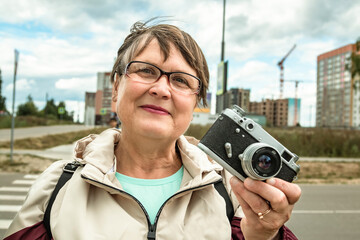
<svg viewBox="0 0 360 240">
<path fill-rule="evenodd" d="M 215 182 L 207 183 L 207 184 L 205 184 L 205 185 L 201 185 L 201 186 L 189 188 L 189 189 L 186 189 L 186 190 L 183 190 L 183 191 L 180 191 L 180 192 L 175 193 L 174 195 L 172 195 L 171 197 L 169 197 L 168 199 L 166 199 L 166 201 L 161 205 L 159 211 L 157 212 L 157 214 L 156 214 L 156 216 L 155 216 L 154 224 L 151 224 L 149 214 L 147 213 L 144 205 L 142 205 L 142 203 L 141 203 L 136 197 L 134 197 L 133 195 L 131 195 L 131 194 L 129 194 L 129 193 L 127 193 L 127 192 L 125 192 L 125 191 L 123 191 L 123 190 L 121 190 L 121 189 L 114 188 L 114 187 L 109 186 L 109 185 L 107 185 L 107 184 L 104 184 L 104 183 L 98 182 L 98 181 L 96 181 L 96 180 L 87 178 L 87 177 L 85 177 L 85 176 L 83 176 L 83 175 L 81 175 L 81 177 L 84 178 L 84 179 L 86 179 L 86 180 L 89 180 L 89 181 L 92 181 L 92 182 L 96 182 L 96 183 L 99 183 L 99 184 L 101 184 L 101 185 L 103 185 L 103 186 L 106 186 L 106 187 L 109 187 L 109 188 L 111 188 L 111 189 L 117 190 L 117 191 L 119 191 L 119 192 L 121 192 L 121 193 L 124 193 L 125 195 L 130 196 L 132 199 L 134 199 L 134 200 L 139 204 L 139 206 L 140 206 L 140 208 L 143 210 L 143 212 L 145 213 L 146 220 L 147 220 L 147 223 L 148 223 L 148 229 L 149 229 L 148 234 L 147 234 L 147 239 L 148 239 L 148 240 L 155 240 L 156 226 L 157 226 L 157 221 L 158 221 L 158 219 L 159 219 L 159 217 L 160 217 L 160 213 L 161 213 L 161 211 L 163 210 L 165 204 L 166 204 L 171 198 L 173 198 L 173 197 L 175 197 L 175 196 L 177 196 L 177 195 L 179 195 L 179 194 L 181 194 L 181 193 L 184 193 L 184 192 L 187 192 L 187 191 L 191 191 L 191 190 L 195 190 L 195 189 L 198 189 L 198 188 L 203 188 L 203 187 L 206 187 L 206 186 L 215 184 L 215 183 L 217 183 L 217 182 L 219 182 L 219 181 L 222 181 L 222 180 L 220 179 L 220 180 L 215 181 Z"/>
</svg>

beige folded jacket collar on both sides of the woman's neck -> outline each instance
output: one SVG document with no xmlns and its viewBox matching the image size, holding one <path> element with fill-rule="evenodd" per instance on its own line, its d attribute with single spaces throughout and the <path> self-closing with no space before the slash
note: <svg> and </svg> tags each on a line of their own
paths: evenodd
<svg viewBox="0 0 360 240">
<path fill-rule="evenodd" d="M 121 188 L 115 177 L 116 161 L 114 150 L 120 141 L 121 130 L 108 129 L 100 135 L 89 135 L 80 139 L 75 146 L 75 159 L 86 164 L 81 174 L 96 182 Z M 210 162 L 205 153 L 189 143 L 184 136 L 177 141 L 184 165 L 182 188 L 193 188 L 215 182 L 221 177 L 216 172 L 222 167 Z"/>
</svg>

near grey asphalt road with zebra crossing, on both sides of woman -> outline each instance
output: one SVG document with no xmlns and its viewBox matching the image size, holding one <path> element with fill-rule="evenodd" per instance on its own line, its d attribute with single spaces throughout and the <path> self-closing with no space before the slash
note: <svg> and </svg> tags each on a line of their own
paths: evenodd
<svg viewBox="0 0 360 240">
<path fill-rule="evenodd" d="M 0 173 L 0 209 L 21 205 L 19 200 L 2 200 L 3 195 L 25 196 L 26 192 L 9 193 L 3 187 L 14 186 L 24 174 Z M 19 182 L 20 184 L 26 182 Z M 19 185 L 19 187 L 29 187 Z M 303 193 L 290 221 L 286 224 L 299 239 L 341 240 L 360 238 L 360 185 L 300 185 Z M 0 222 L 9 221 L 16 211 L 0 211 Z M 0 229 L 0 237 L 5 229 Z"/>
</svg>

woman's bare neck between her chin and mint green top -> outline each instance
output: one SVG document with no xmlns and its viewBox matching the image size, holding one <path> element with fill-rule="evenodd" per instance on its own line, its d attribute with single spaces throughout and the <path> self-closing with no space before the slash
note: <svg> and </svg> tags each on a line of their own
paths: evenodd
<svg viewBox="0 0 360 240">
<path fill-rule="evenodd" d="M 115 149 L 116 171 L 135 178 L 171 176 L 182 166 L 176 141 L 127 137 L 122 134 Z"/>
</svg>

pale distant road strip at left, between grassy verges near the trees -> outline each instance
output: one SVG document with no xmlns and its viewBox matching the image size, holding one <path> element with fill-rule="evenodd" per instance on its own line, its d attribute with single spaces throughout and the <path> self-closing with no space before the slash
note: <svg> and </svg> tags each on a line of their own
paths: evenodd
<svg viewBox="0 0 360 240">
<path fill-rule="evenodd" d="M 81 130 L 92 129 L 94 126 L 85 125 L 55 125 L 55 126 L 41 126 L 41 127 L 28 127 L 28 128 L 15 128 L 14 139 L 23 139 L 30 137 L 41 137 L 51 134 L 59 134 L 66 132 L 75 132 Z M 0 142 L 10 141 L 11 129 L 0 129 Z"/>
</svg>

